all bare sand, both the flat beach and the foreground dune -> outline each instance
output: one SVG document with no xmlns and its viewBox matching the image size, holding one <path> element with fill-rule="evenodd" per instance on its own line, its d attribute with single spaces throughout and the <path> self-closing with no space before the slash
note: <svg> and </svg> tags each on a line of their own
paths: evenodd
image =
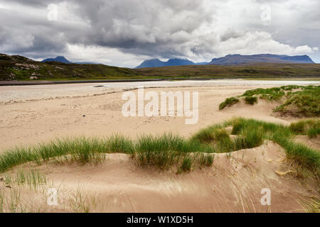
<svg viewBox="0 0 320 227">
<path fill-rule="evenodd" d="M 277 102 L 260 100 L 250 106 L 240 101 L 218 109 L 226 98 L 248 89 L 288 84 L 320 83 L 215 80 L 0 87 L 0 150 L 3 153 L 15 146 L 27 147 L 55 138 L 106 137 L 114 133 L 137 138 L 173 132 L 188 138 L 201 128 L 239 116 L 288 125 L 297 119 L 274 116 L 272 109 Z M 123 92 L 137 93 L 141 85 L 145 92 L 198 92 L 198 123 L 186 125 L 185 118 L 177 116 L 124 117 Z M 319 149 L 315 140 L 305 136 L 297 140 Z M 283 148 L 265 141 L 257 148 L 216 154 L 213 167 L 195 168 L 186 175 L 138 167 L 125 154 L 107 154 L 101 165 L 26 163 L 9 173 L 37 170 L 46 175 L 50 187 L 59 188 L 58 205 L 48 206 L 47 188 L 34 192 L 20 186 L 21 193 L 28 194 L 21 204 L 31 212 L 302 212 L 301 201 L 319 192 L 314 182 L 306 187 L 295 177 L 281 175 L 292 170 L 292 163 L 285 157 Z M 272 206 L 260 203 L 262 188 L 272 190 Z M 6 187 L 3 190 L 14 192 Z"/>
</svg>

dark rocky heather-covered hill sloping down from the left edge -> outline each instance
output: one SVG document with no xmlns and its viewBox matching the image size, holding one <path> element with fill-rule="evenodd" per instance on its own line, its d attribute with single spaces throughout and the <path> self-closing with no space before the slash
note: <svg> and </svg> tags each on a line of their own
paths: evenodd
<svg viewBox="0 0 320 227">
<path fill-rule="evenodd" d="M 36 62 L 27 57 L 0 55 L 0 80 L 117 79 L 137 77 L 136 71 L 92 64 Z"/>
</svg>

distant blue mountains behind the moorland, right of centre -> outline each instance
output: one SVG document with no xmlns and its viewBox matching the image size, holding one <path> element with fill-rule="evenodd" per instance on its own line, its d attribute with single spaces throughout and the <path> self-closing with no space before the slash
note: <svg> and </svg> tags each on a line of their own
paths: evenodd
<svg viewBox="0 0 320 227">
<path fill-rule="evenodd" d="M 250 64 L 257 62 L 267 62 L 267 63 L 309 63 L 313 64 L 314 61 L 308 55 L 226 55 L 225 57 L 213 58 L 211 62 L 191 62 L 186 59 L 170 59 L 167 62 L 161 61 L 159 59 L 145 60 L 141 65 L 137 67 L 164 67 L 164 66 L 176 66 L 176 65 L 241 65 Z"/>
</svg>

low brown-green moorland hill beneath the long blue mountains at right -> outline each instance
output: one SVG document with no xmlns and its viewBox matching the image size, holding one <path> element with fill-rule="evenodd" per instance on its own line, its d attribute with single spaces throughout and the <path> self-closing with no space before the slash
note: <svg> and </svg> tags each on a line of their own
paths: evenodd
<svg viewBox="0 0 320 227">
<path fill-rule="evenodd" d="M 320 64 L 256 63 L 250 65 L 183 65 L 137 69 L 148 77 L 183 78 L 320 78 Z"/>
</svg>

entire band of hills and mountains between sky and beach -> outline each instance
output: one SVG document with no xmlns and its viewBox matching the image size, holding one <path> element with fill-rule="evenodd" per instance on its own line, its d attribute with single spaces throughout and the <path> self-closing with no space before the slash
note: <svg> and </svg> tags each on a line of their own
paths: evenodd
<svg viewBox="0 0 320 227">
<path fill-rule="evenodd" d="M 261 56 L 260 56 L 261 57 Z M 263 62 L 270 56 L 262 56 Z M 274 57 L 274 56 L 273 56 Z M 310 62 L 309 57 L 278 56 L 277 62 Z M 64 57 L 65 58 L 65 57 Z M 227 56 L 224 59 L 214 59 L 213 63 L 221 64 L 227 61 L 234 63 L 239 56 Z M 250 58 L 250 57 L 249 57 Z M 260 59 L 255 57 L 255 59 Z M 95 64 L 65 64 L 56 60 L 63 60 L 63 57 L 55 61 L 38 62 L 28 57 L 19 55 L 6 55 L 0 53 L 0 81 L 20 80 L 82 80 L 82 79 L 168 79 L 168 78 L 293 78 L 293 77 L 316 77 L 320 76 L 320 64 L 292 64 L 292 63 L 258 63 L 238 64 L 233 67 L 228 65 L 190 65 L 193 62 L 188 60 L 169 60 L 168 62 L 154 61 L 154 66 L 181 65 L 176 67 L 153 67 L 142 69 L 129 69 L 123 67 L 112 67 L 108 65 Z M 69 61 L 68 61 L 69 62 Z M 243 62 L 243 60 L 242 60 Z M 186 64 L 186 65 L 182 65 Z M 193 63 L 194 64 L 194 63 Z M 0 83 L 1 85 L 1 83 Z"/>
</svg>

